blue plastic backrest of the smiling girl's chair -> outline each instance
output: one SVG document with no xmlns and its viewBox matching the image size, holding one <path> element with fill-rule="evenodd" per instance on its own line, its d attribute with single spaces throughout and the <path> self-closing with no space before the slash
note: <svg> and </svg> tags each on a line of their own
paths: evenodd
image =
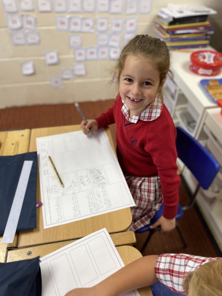
<svg viewBox="0 0 222 296">
<path fill-rule="evenodd" d="M 177 127 L 176 149 L 178 157 L 189 168 L 203 189 L 208 189 L 220 165 L 194 137 Z"/>
</svg>

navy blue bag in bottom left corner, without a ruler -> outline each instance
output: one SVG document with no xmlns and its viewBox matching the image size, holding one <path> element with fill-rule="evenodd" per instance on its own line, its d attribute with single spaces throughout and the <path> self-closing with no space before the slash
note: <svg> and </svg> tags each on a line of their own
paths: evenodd
<svg viewBox="0 0 222 296">
<path fill-rule="evenodd" d="M 41 296 L 39 257 L 0 263 L 1 296 Z"/>
</svg>

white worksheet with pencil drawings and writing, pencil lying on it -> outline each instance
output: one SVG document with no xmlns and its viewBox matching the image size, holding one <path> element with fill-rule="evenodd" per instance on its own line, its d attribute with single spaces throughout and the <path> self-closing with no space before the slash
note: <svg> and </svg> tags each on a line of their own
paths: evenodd
<svg viewBox="0 0 222 296">
<path fill-rule="evenodd" d="M 95 137 L 75 131 L 36 142 L 44 229 L 135 206 L 104 129 Z"/>
</svg>

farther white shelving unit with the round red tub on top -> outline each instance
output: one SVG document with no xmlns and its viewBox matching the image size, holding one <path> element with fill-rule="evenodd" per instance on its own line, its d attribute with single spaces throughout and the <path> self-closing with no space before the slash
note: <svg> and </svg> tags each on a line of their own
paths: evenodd
<svg viewBox="0 0 222 296">
<path fill-rule="evenodd" d="M 213 50 L 210 46 L 207 49 Z M 206 77 L 193 73 L 189 70 L 190 55 L 191 52 L 170 52 L 172 75 L 168 75 L 163 86 L 163 97 L 175 125 L 196 137 L 205 110 L 217 107 L 200 88 L 200 80 L 222 78 L 222 74 Z"/>
</svg>

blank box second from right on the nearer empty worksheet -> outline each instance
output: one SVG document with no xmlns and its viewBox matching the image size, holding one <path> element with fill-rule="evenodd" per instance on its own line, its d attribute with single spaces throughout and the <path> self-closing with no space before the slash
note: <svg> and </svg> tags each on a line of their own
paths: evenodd
<svg viewBox="0 0 222 296">
<path fill-rule="evenodd" d="M 70 251 L 70 255 L 82 287 L 98 278 L 85 245 Z"/>
</svg>

